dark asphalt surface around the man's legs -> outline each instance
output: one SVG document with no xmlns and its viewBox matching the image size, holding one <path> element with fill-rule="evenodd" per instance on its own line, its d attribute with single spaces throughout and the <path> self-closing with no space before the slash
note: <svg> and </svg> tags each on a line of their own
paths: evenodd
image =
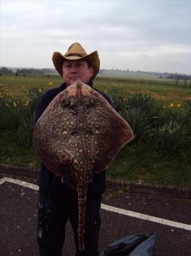
<svg viewBox="0 0 191 256">
<path fill-rule="evenodd" d="M 1 184 L 2 178 L 3 175 L 0 176 L 0 255 L 39 255 L 35 234 L 38 192 L 10 181 Z M 35 179 L 22 179 L 37 184 Z M 191 199 L 119 193 L 108 189 L 102 203 L 114 207 L 116 212 L 101 209 L 100 252 L 129 234 L 157 232 L 154 255 L 191 255 Z M 75 255 L 73 241 L 68 224 L 62 255 Z"/>
</svg>

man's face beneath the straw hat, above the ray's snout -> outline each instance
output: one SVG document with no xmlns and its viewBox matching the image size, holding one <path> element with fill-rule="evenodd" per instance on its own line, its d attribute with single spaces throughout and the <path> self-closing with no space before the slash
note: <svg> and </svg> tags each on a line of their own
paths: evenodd
<svg viewBox="0 0 191 256">
<path fill-rule="evenodd" d="M 83 59 L 63 61 L 62 72 L 66 86 L 70 86 L 78 80 L 88 84 L 93 75 L 92 67 L 89 68 L 87 61 Z"/>
</svg>

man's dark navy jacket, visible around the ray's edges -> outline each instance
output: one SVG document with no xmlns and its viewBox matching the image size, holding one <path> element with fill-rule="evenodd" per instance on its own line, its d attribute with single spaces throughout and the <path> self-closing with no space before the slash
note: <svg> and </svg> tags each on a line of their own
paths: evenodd
<svg viewBox="0 0 191 256">
<path fill-rule="evenodd" d="M 92 87 L 93 83 L 90 81 L 88 84 Z M 63 83 L 58 88 L 53 88 L 48 91 L 46 91 L 43 96 L 41 97 L 41 100 L 39 104 L 36 106 L 35 110 L 35 118 L 33 120 L 33 127 L 35 127 L 35 123 L 37 120 L 41 117 L 44 110 L 47 108 L 47 106 L 50 104 L 50 102 L 53 100 L 54 97 L 57 96 L 57 94 L 61 93 L 63 90 L 66 89 L 65 83 Z M 109 104 L 114 108 L 111 100 L 107 96 L 107 94 L 100 92 L 99 90 L 95 89 L 97 92 L 99 92 L 108 102 Z M 57 182 L 61 183 L 61 177 L 57 177 L 52 172 L 48 170 L 44 166 L 43 163 L 41 163 L 41 172 L 40 172 L 40 179 L 39 179 L 39 188 L 40 190 L 44 191 L 45 193 L 50 192 L 50 188 L 52 187 L 54 181 L 57 180 Z M 60 185 L 65 185 L 64 183 Z M 105 171 L 100 172 L 99 174 L 94 174 L 92 182 L 88 185 L 88 193 L 92 196 L 94 195 L 102 195 L 105 191 Z"/>
</svg>

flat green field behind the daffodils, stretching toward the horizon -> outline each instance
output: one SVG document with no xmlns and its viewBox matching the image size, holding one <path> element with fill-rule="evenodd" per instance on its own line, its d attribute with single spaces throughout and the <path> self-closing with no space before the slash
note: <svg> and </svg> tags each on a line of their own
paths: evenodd
<svg viewBox="0 0 191 256">
<path fill-rule="evenodd" d="M 138 73 L 139 74 L 139 73 Z M 146 74 L 145 74 L 146 75 Z M 148 77 L 147 77 L 148 78 Z M 53 83 L 53 87 L 60 86 L 63 82 L 62 77 L 57 75 L 3 75 L 0 77 L 0 90 L 12 96 L 24 95 L 30 86 L 50 88 L 49 82 Z M 120 78 L 100 77 L 94 80 L 94 87 L 101 90 L 117 89 L 124 94 L 144 93 L 148 94 L 164 104 L 181 104 L 191 99 L 191 87 L 169 85 L 168 82 L 137 79 L 126 80 Z"/>
</svg>

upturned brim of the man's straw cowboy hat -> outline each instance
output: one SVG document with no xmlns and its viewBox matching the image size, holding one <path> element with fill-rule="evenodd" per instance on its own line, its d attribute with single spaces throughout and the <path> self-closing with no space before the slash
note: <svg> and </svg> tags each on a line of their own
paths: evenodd
<svg viewBox="0 0 191 256">
<path fill-rule="evenodd" d="M 92 52 L 86 56 L 80 57 L 80 56 L 63 56 L 60 52 L 54 52 L 52 56 L 52 61 L 54 64 L 54 67 L 56 68 L 57 72 L 62 76 L 62 65 L 64 60 L 87 60 L 88 63 L 93 68 L 93 74 L 91 79 L 95 79 L 97 73 L 100 69 L 100 60 L 97 51 Z"/>
</svg>

